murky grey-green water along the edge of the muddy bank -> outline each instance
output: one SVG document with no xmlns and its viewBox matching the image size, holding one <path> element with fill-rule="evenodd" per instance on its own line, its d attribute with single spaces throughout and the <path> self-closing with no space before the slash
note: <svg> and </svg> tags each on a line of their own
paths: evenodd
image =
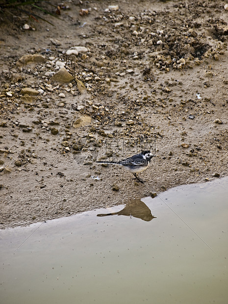
<svg viewBox="0 0 228 304">
<path fill-rule="evenodd" d="M 228 303 L 228 178 L 159 197 L 1 230 L 0 302 Z"/>
</svg>

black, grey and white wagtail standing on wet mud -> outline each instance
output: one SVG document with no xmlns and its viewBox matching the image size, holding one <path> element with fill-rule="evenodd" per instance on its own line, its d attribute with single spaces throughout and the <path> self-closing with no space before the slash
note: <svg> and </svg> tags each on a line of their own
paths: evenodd
<svg viewBox="0 0 228 304">
<path fill-rule="evenodd" d="M 137 173 L 141 173 L 146 170 L 151 162 L 152 157 L 154 156 L 156 155 L 153 155 L 151 151 L 142 151 L 139 154 L 135 154 L 120 161 L 97 161 L 97 163 L 123 166 L 127 171 L 133 174 L 136 181 L 144 183 L 144 181 L 139 178 Z"/>
</svg>

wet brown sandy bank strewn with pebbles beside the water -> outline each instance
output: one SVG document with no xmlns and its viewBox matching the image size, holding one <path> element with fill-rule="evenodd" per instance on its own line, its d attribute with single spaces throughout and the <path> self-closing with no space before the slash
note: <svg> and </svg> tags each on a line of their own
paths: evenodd
<svg viewBox="0 0 228 304">
<path fill-rule="evenodd" d="M 64 3 L 0 15 L 0 228 L 227 175 L 226 1 Z M 142 149 L 144 184 L 96 163 Z"/>
</svg>

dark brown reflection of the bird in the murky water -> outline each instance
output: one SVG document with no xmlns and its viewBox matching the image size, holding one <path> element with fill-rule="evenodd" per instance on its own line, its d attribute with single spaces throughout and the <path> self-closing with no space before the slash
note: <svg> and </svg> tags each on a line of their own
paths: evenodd
<svg viewBox="0 0 228 304">
<path fill-rule="evenodd" d="M 124 209 L 118 212 L 97 214 L 97 216 L 108 216 L 108 215 L 133 216 L 146 222 L 149 222 L 152 219 L 156 218 L 155 216 L 152 216 L 151 210 L 140 199 L 131 199 L 130 202 L 126 204 Z"/>
</svg>

